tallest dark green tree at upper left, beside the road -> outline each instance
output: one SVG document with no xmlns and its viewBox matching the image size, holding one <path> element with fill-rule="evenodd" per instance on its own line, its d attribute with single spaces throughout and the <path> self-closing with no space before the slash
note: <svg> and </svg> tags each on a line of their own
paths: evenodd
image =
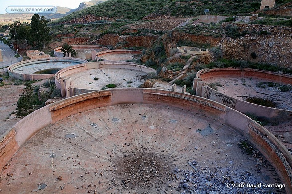
<svg viewBox="0 0 292 194">
<path fill-rule="evenodd" d="M 48 20 L 44 16 L 39 17 L 38 14 L 32 16 L 30 22 L 30 45 L 37 48 L 45 48 L 46 44 L 51 41 L 51 31 L 47 23 Z"/>
</svg>

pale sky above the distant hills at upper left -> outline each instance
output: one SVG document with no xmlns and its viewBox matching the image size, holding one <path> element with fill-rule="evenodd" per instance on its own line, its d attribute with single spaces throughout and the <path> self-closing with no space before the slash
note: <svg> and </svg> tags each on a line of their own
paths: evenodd
<svg viewBox="0 0 292 194">
<path fill-rule="evenodd" d="M 0 14 L 6 13 L 8 6 L 61 6 L 74 9 L 84 1 L 90 0 L 1 0 Z"/>
</svg>

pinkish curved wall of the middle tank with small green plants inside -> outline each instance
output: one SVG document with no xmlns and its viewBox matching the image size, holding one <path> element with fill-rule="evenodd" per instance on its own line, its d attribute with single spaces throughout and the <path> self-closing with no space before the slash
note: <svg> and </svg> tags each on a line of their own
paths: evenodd
<svg viewBox="0 0 292 194">
<path fill-rule="evenodd" d="M 145 65 L 140 65 L 137 63 L 126 62 L 126 61 L 98 61 L 91 63 L 84 63 L 79 65 L 74 65 L 71 67 L 64 68 L 55 74 L 55 83 L 57 88 L 61 90 L 62 97 L 70 97 L 78 94 L 83 94 L 86 92 L 91 92 L 95 90 L 88 90 L 83 88 L 73 88 L 71 87 L 69 75 L 90 69 L 98 68 L 116 68 L 116 69 L 129 69 L 137 70 L 145 73 L 156 72 L 154 69 L 147 67 Z"/>
</svg>

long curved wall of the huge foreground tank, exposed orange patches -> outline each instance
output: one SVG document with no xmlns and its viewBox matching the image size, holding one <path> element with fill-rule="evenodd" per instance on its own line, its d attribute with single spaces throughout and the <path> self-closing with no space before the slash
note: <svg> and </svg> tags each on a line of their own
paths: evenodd
<svg viewBox="0 0 292 194">
<path fill-rule="evenodd" d="M 208 115 L 237 130 L 270 161 L 282 183 L 286 185 L 286 192 L 292 193 L 292 156 L 267 129 L 242 113 L 218 102 L 158 89 L 122 88 L 95 91 L 44 106 L 20 120 L 1 136 L 0 168 L 3 168 L 13 154 L 42 128 L 77 113 L 125 103 L 159 104 L 182 108 Z"/>
</svg>

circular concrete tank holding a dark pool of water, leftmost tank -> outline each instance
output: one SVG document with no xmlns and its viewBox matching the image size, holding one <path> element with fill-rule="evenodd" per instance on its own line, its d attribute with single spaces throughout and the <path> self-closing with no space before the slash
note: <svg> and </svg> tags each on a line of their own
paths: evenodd
<svg viewBox="0 0 292 194">
<path fill-rule="evenodd" d="M 9 76 L 21 80 L 38 80 L 53 77 L 55 72 L 80 63 L 87 63 L 80 58 L 49 57 L 25 60 L 8 67 Z"/>
</svg>

